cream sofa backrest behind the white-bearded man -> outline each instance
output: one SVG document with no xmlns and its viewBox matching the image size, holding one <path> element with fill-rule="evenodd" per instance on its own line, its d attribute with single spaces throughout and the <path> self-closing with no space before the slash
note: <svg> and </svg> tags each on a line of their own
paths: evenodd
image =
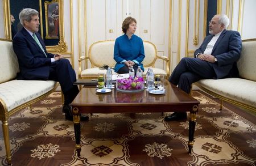
<svg viewBox="0 0 256 166">
<path fill-rule="evenodd" d="M 237 67 L 241 78 L 256 81 L 256 40 L 245 40 L 242 42 L 241 57 Z"/>
</svg>

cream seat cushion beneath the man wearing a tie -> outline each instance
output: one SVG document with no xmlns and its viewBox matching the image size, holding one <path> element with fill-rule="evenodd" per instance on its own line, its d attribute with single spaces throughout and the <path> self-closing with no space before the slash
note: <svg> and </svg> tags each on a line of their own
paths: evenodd
<svg viewBox="0 0 256 166">
<path fill-rule="evenodd" d="M 52 90 L 55 83 L 52 80 L 11 80 L 1 83 L 0 100 L 5 102 L 7 110 L 10 111 Z"/>
</svg>

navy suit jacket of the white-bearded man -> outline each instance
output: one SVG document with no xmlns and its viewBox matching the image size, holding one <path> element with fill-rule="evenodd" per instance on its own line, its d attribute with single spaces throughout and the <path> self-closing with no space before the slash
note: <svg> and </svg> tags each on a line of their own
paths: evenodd
<svg viewBox="0 0 256 166">
<path fill-rule="evenodd" d="M 204 53 L 204 50 L 207 48 L 207 44 L 213 36 L 214 35 L 209 35 L 205 37 L 200 48 L 195 51 L 195 57 L 199 53 Z M 237 69 L 237 61 L 240 58 L 241 50 L 242 41 L 240 33 L 224 29 L 212 49 L 212 55 L 218 60 L 217 63 L 212 63 L 217 79 L 238 77 L 239 72 Z"/>
</svg>

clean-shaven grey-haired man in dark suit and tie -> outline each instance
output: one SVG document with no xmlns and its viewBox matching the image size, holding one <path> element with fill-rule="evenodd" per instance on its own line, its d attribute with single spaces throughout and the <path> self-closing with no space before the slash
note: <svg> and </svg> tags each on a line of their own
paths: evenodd
<svg viewBox="0 0 256 166">
<path fill-rule="evenodd" d="M 77 86 L 73 85 L 76 73 L 68 59 L 64 59 L 60 54 L 47 53 L 44 41 L 38 33 L 38 15 L 38 11 L 32 8 L 24 8 L 19 14 L 23 28 L 13 39 L 13 48 L 20 69 L 17 79 L 58 81 L 64 94 L 65 118 L 73 120 L 69 104 L 79 92 Z M 81 116 L 81 120 L 88 120 L 88 117 Z"/>
</svg>

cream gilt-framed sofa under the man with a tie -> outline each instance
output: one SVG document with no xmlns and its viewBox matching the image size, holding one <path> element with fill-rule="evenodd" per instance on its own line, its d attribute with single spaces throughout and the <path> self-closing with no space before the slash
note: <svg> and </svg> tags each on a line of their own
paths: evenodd
<svg viewBox="0 0 256 166">
<path fill-rule="evenodd" d="M 16 80 L 19 65 L 12 42 L 0 40 L 0 50 L 0 120 L 2 121 L 7 162 L 10 164 L 9 116 L 48 96 L 55 90 L 57 83 L 41 80 Z"/>
</svg>

